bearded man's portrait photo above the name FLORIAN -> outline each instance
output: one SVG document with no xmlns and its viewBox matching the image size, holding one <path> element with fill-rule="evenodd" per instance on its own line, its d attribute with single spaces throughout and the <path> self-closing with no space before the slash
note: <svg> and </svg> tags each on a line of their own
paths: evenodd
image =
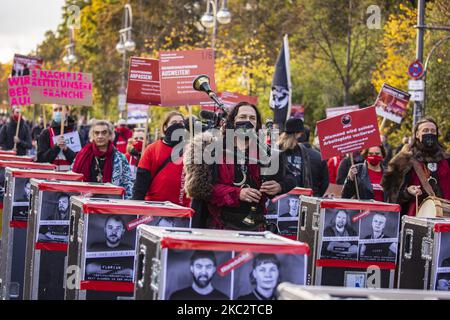
<svg viewBox="0 0 450 320">
<path fill-rule="evenodd" d="M 127 230 L 135 215 L 89 215 L 87 252 L 134 251 L 136 229 Z"/>
</svg>

